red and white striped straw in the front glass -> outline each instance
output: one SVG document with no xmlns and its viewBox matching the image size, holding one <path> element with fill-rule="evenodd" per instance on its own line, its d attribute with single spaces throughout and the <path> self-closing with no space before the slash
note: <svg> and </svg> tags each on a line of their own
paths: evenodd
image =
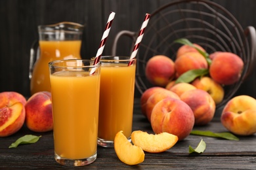
<svg viewBox="0 0 256 170">
<path fill-rule="evenodd" d="M 95 61 L 93 62 L 93 65 L 96 65 L 100 61 L 100 57 L 101 57 L 102 52 L 104 50 L 104 46 L 106 44 L 106 39 L 108 38 L 108 34 L 110 33 L 110 28 L 111 28 L 112 22 L 114 20 L 115 14 L 116 14 L 115 12 L 111 12 L 110 16 L 108 17 L 108 22 L 106 23 L 106 28 L 105 28 L 105 31 L 102 35 L 102 38 L 101 38 L 101 41 L 100 41 L 100 46 L 99 46 L 98 51 L 96 53 Z M 91 74 L 93 74 L 93 73 L 95 73 L 95 68 L 93 68 L 91 70 Z"/>
</svg>

